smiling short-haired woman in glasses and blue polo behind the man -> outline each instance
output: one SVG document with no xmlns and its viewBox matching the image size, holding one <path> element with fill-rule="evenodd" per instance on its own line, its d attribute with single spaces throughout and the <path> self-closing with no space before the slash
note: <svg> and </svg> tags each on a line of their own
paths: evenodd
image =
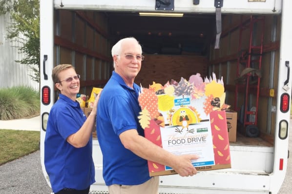
<svg viewBox="0 0 292 194">
<path fill-rule="evenodd" d="M 55 194 L 88 194 L 90 185 L 95 182 L 91 134 L 99 95 L 86 119 L 76 101 L 80 75 L 74 67 L 58 65 L 53 69 L 52 78 L 61 94 L 47 122 L 45 169 Z"/>
</svg>

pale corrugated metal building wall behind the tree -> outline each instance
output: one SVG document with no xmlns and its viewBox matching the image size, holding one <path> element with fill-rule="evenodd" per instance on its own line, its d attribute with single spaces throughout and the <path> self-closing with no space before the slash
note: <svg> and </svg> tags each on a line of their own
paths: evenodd
<svg viewBox="0 0 292 194">
<path fill-rule="evenodd" d="M 22 65 L 15 60 L 20 60 L 24 54 L 19 53 L 15 46 L 19 42 L 10 42 L 6 39 L 6 28 L 9 26 L 9 14 L 0 16 L 0 88 L 12 86 L 31 86 L 39 90 L 39 83 L 32 81 L 29 75 L 33 72 L 27 65 Z"/>
</svg>

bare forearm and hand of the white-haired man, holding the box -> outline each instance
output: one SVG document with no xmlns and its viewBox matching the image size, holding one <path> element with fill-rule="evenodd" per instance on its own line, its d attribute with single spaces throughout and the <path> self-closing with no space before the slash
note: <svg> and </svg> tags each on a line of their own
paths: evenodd
<svg viewBox="0 0 292 194">
<path fill-rule="evenodd" d="M 139 136 L 135 129 L 123 132 L 120 135 L 120 139 L 125 148 L 134 154 L 146 160 L 170 166 L 181 176 L 195 175 L 197 173 L 190 161 L 198 159 L 197 155 L 173 155 L 145 137 Z"/>
</svg>

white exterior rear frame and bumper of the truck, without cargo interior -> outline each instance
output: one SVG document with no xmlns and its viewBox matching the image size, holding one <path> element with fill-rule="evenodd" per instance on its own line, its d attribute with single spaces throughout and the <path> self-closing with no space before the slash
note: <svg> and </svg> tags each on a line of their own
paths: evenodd
<svg viewBox="0 0 292 194">
<path fill-rule="evenodd" d="M 43 61 L 43 64 L 41 64 L 41 88 L 49 88 L 49 92 L 47 93 L 49 101 L 45 103 L 41 102 L 42 121 L 40 149 L 42 169 L 48 184 L 50 184 L 50 182 L 44 168 L 43 147 L 46 121 L 55 98 L 51 74 L 52 68 L 57 63 L 62 62 L 60 56 L 58 56 L 58 46 L 56 47 L 54 43 L 55 37 L 58 36 L 58 28 L 55 25 L 58 17 L 56 17 L 54 13 L 56 13 L 56 10 L 155 12 L 154 5 L 154 0 L 40 0 L 41 61 Z M 211 15 L 215 13 L 214 0 L 201 0 L 198 5 L 194 5 L 192 0 L 174 0 L 174 7 L 173 11 L 166 12 Z M 276 72 L 278 74 L 278 79 L 275 80 L 277 81 L 276 85 L 278 85 L 278 87 L 274 94 L 276 104 L 274 110 L 275 119 L 272 124 L 274 127 L 272 134 L 273 146 L 230 144 L 230 169 L 202 171 L 191 177 L 181 177 L 179 175 L 160 176 L 159 192 L 161 194 L 278 193 L 285 178 L 289 156 L 288 136 L 282 135 L 282 137 L 286 136 L 285 138 L 280 138 L 279 136 L 283 133 L 288 134 L 290 124 L 290 110 L 285 113 L 280 110 L 281 96 L 283 94 L 290 95 L 292 88 L 292 79 L 288 79 L 287 83 L 285 82 L 287 78 L 292 78 L 292 73 L 287 70 L 286 66 L 286 61 L 292 61 L 292 27 L 289 22 L 289 19 L 292 18 L 292 12 L 290 8 L 292 8 L 291 0 L 265 0 L 264 2 L 260 0 L 255 0 L 255 2 L 250 2 L 250 0 L 224 0 L 224 4 L 221 8 L 222 15 L 259 14 L 266 16 L 276 15 L 281 18 L 278 70 Z M 266 23 L 268 22 L 269 21 L 266 21 Z M 84 60 L 86 62 L 86 59 Z M 112 66 L 110 62 L 108 64 Z M 209 68 L 215 69 L 214 66 L 210 66 Z M 47 78 L 45 78 L 45 75 L 47 75 Z M 283 120 L 285 121 L 284 124 L 280 125 Z M 107 192 L 107 187 L 104 185 L 102 175 L 102 157 L 98 140 L 93 139 L 96 182 L 91 186 L 90 192 L 92 194 L 104 194 Z"/>
</svg>

